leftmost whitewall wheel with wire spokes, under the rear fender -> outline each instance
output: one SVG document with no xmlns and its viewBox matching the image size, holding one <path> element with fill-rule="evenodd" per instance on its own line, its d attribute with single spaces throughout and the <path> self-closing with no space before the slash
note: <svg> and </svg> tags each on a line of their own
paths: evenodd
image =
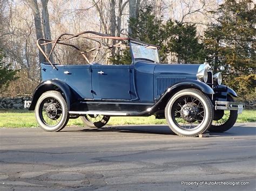
<svg viewBox="0 0 256 191">
<path fill-rule="evenodd" d="M 45 131 L 60 131 L 69 121 L 68 107 L 58 91 L 46 91 L 36 104 L 36 120 Z"/>
</svg>

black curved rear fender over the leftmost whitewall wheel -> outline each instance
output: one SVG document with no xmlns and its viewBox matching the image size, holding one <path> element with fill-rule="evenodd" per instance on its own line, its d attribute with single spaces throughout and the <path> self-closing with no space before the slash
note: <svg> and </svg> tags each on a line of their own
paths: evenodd
<svg viewBox="0 0 256 191">
<path fill-rule="evenodd" d="M 36 89 L 33 93 L 32 102 L 29 107 L 29 110 L 35 110 L 38 98 L 43 93 L 45 93 L 45 91 L 50 91 L 50 90 L 62 91 L 62 93 L 64 95 L 63 97 L 66 101 L 66 105 L 67 105 L 68 111 L 69 111 L 71 98 L 72 98 L 70 87 L 68 86 L 68 84 L 66 84 L 60 80 L 56 80 L 56 79 L 43 81 L 36 87 Z"/>
</svg>

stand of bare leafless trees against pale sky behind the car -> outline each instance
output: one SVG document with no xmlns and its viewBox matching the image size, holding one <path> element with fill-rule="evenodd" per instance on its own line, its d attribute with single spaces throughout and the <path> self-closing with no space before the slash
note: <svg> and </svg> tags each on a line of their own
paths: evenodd
<svg viewBox="0 0 256 191">
<path fill-rule="evenodd" d="M 196 24 L 199 35 L 214 22 L 208 11 L 219 6 L 215 0 L 0 0 L 0 48 L 5 52 L 6 63 L 11 63 L 12 69 L 22 71 L 22 77 L 9 92 L 17 90 L 18 93 L 17 87 L 24 87 L 21 92 L 31 93 L 38 83 L 38 62 L 45 61 L 37 52 L 35 42 L 38 38 L 56 39 L 64 32 L 75 34 L 86 30 L 126 36 L 131 33 L 127 27 L 129 17 L 137 18 L 139 7 L 145 5 L 152 5 L 154 14 L 164 16 L 161 18 L 164 22 L 172 19 Z M 89 41 L 81 42 L 77 40 L 76 45 L 85 49 L 97 46 Z M 103 42 L 107 44 L 110 40 Z M 51 47 L 45 46 L 45 49 L 49 53 Z M 112 52 L 104 51 L 99 53 L 98 62 L 109 61 L 107 57 Z M 59 45 L 53 55 L 59 63 L 83 63 L 74 52 Z"/>
</svg>

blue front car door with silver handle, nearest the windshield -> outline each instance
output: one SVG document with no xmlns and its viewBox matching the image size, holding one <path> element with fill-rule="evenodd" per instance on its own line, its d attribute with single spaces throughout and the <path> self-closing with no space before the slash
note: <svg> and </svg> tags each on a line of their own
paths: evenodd
<svg viewBox="0 0 256 191">
<path fill-rule="evenodd" d="M 130 100 L 129 65 L 92 65 L 94 99 Z"/>
</svg>

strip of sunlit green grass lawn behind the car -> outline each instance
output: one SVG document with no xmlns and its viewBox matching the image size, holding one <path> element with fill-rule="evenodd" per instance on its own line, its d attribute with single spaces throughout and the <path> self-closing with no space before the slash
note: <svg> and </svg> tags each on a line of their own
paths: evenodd
<svg viewBox="0 0 256 191">
<path fill-rule="evenodd" d="M 256 110 L 244 110 L 237 122 L 256 122 Z M 111 117 L 107 125 L 166 124 L 165 119 L 150 117 Z M 70 119 L 68 125 L 84 126 L 80 118 Z M 37 127 L 35 114 L 26 110 L 0 110 L 0 128 Z"/>
</svg>

